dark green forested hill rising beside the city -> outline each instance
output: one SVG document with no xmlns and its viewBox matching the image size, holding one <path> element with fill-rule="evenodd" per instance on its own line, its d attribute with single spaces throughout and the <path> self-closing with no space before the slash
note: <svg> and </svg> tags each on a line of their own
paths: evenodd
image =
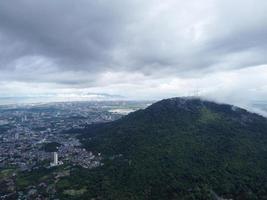
<svg viewBox="0 0 267 200">
<path fill-rule="evenodd" d="M 72 172 L 81 198 L 267 199 L 267 120 L 244 109 L 172 98 L 83 132 L 105 160 Z"/>
</svg>

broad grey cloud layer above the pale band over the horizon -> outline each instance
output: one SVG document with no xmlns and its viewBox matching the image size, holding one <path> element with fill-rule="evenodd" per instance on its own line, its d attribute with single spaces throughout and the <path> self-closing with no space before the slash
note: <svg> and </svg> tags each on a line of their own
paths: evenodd
<svg viewBox="0 0 267 200">
<path fill-rule="evenodd" d="M 106 71 L 190 77 L 266 64 L 264 1 L 1 1 L 0 78 L 87 87 Z"/>
</svg>

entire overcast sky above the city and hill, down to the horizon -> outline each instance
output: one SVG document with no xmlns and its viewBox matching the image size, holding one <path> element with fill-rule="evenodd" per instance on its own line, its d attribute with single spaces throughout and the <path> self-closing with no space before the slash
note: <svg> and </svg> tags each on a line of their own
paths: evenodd
<svg viewBox="0 0 267 200">
<path fill-rule="evenodd" d="M 0 1 L 0 98 L 267 101 L 266 0 Z"/>
</svg>

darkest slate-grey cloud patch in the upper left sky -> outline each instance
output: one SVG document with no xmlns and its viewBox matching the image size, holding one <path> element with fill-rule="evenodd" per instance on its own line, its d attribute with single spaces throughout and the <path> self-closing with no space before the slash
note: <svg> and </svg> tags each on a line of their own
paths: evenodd
<svg viewBox="0 0 267 200">
<path fill-rule="evenodd" d="M 64 67 L 106 65 L 116 46 L 123 23 L 130 17 L 113 1 L 2 1 L 1 32 L 19 41 L 10 60 L 24 55 L 42 55 Z M 10 42 L 12 45 L 12 42 Z M 22 50 L 20 50 L 22 49 Z M 18 53 L 22 51 L 21 53 Z M 90 68 L 89 68 L 90 69 Z"/>
</svg>

